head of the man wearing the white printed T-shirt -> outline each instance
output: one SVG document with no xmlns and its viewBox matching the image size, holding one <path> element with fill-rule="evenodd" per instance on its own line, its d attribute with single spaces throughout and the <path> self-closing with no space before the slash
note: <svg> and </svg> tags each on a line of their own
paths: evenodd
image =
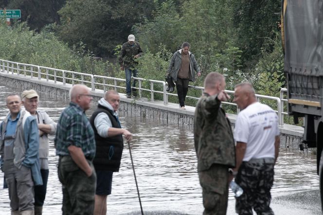
<svg viewBox="0 0 323 215">
<path fill-rule="evenodd" d="M 245 109 L 252 103 L 256 102 L 255 91 L 248 82 L 237 84 L 234 88 L 234 102 L 240 109 Z"/>
</svg>

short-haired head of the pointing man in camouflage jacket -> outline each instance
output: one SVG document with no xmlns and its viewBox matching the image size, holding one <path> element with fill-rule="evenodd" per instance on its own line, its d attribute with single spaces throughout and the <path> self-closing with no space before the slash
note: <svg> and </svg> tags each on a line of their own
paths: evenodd
<svg viewBox="0 0 323 215">
<path fill-rule="evenodd" d="M 214 95 L 225 89 L 225 78 L 218 72 L 210 72 L 204 80 L 204 92 Z"/>
</svg>

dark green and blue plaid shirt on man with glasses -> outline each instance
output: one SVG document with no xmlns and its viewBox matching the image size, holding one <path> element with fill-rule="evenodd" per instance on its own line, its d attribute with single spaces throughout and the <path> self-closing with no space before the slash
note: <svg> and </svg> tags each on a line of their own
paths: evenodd
<svg viewBox="0 0 323 215">
<path fill-rule="evenodd" d="M 84 110 L 70 102 L 59 117 L 55 136 L 56 155 L 70 156 L 68 147 L 75 145 L 82 148 L 87 159 L 95 156 L 95 139 L 92 126 Z"/>
</svg>

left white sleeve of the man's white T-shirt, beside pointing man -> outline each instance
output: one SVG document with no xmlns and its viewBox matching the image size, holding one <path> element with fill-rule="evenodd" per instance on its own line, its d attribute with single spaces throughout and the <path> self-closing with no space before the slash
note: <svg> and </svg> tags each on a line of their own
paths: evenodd
<svg viewBox="0 0 323 215">
<path fill-rule="evenodd" d="M 236 142 L 248 143 L 249 123 L 245 115 L 238 114 L 234 126 L 234 140 Z"/>
</svg>

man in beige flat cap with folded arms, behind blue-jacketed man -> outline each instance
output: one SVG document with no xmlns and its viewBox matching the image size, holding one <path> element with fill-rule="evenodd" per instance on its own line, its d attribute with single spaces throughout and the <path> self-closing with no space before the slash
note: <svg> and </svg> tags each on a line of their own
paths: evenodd
<svg viewBox="0 0 323 215">
<path fill-rule="evenodd" d="M 56 132 L 56 123 L 45 111 L 37 110 L 38 94 L 35 90 L 25 90 L 21 93 L 21 102 L 28 112 L 36 119 L 39 129 L 39 163 L 43 185 L 35 187 L 35 215 L 41 215 L 46 196 L 47 181 L 49 175 L 48 155 L 49 140 L 48 135 Z"/>
</svg>

